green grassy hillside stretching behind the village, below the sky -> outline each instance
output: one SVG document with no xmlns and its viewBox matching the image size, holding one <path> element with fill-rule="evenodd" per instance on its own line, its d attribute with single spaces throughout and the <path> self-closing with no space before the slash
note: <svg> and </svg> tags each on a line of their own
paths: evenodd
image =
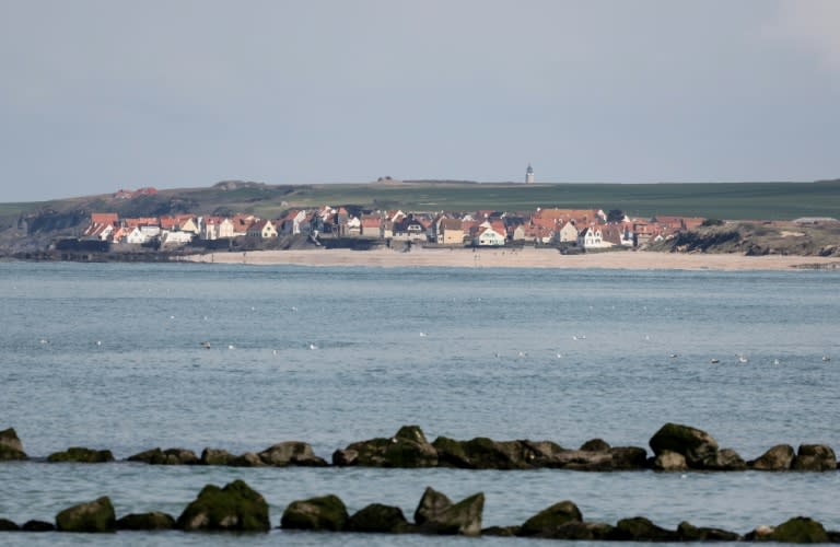
<svg viewBox="0 0 840 547">
<path fill-rule="evenodd" d="M 387 183 L 249 185 L 162 190 L 158 196 L 115 201 L 107 197 L 40 203 L 0 203 L 0 216 L 45 207 L 59 211 L 117 211 L 122 216 L 173 212 L 253 212 L 276 218 L 289 208 L 357 205 L 372 209 L 528 211 L 537 207 L 621 209 L 630 216 L 678 214 L 716 219 L 791 220 L 840 218 L 840 181 L 820 183 L 695 184 L 489 184 Z"/>
</svg>

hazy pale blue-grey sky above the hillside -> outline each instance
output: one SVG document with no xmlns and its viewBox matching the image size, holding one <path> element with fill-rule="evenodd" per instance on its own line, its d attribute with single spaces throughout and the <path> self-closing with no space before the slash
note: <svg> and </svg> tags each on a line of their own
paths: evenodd
<svg viewBox="0 0 840 547">
<path fill-rule="evenodd" d="M 840 177 L 838 0 L 0 0 L 0 202 Z"/>
</svg>

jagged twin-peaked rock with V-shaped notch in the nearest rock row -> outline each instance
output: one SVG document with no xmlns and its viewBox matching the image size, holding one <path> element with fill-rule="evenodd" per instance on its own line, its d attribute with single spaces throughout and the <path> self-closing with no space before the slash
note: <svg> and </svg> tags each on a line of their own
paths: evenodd
<svg viewBox="0 0 840 547">
<path fill-rule="evenodd" d="M 415 523 L 423 534 L 477 536 L 481 534 L 483 510 L 483 493 L 453 504 L 445 494 L 427 487 L 415 511 Z"/>
</svg>

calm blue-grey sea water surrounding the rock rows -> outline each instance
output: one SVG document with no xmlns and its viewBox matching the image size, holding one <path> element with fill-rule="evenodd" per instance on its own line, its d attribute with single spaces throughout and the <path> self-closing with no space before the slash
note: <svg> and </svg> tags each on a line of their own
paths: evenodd
<svg viewBox="0 0 840 547">
<path fill-rule="evenodd" d="M 812 516 L 840 529 L 838 473 L 231 468 L 48 464 L 69 446 L 259 452 L 420 426 L 429 440 L 600 438 L 643 446 L 666 422 L 745 459 L 840 449 L 840 272 L 0 264 L 0 429 L 33 457 L 0 463 L 0 516 L 54 522 L 108 496 L 117 516 L 177 517 L 207 484 L 270 504 L 335 493 L 411 520 L 427 486 L 486 496 L 483 525 L 561 500 L 584 519 L 643 515 L 746 533 Z M 205 344 L 209 342 L 209 344 Z M 209 348 L 206 346 L 209 345 Z M 719 362 L 713 363 L 716 360 Z M 352 534 L 0 535 L 9 545 L 548 545 Z"/>
</svg>

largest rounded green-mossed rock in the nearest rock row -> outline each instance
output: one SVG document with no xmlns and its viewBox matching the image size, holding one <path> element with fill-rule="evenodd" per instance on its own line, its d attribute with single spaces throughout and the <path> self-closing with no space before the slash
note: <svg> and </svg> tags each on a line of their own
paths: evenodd
<svg viewBox="0 0 840 547">
<path fill-rule="evenodd" d="M 268 532 L 268 503 L 242 480 L 219 488 L 207 485 L 180 513 L 176 526 L 184 531 Z"/>
</svg>

